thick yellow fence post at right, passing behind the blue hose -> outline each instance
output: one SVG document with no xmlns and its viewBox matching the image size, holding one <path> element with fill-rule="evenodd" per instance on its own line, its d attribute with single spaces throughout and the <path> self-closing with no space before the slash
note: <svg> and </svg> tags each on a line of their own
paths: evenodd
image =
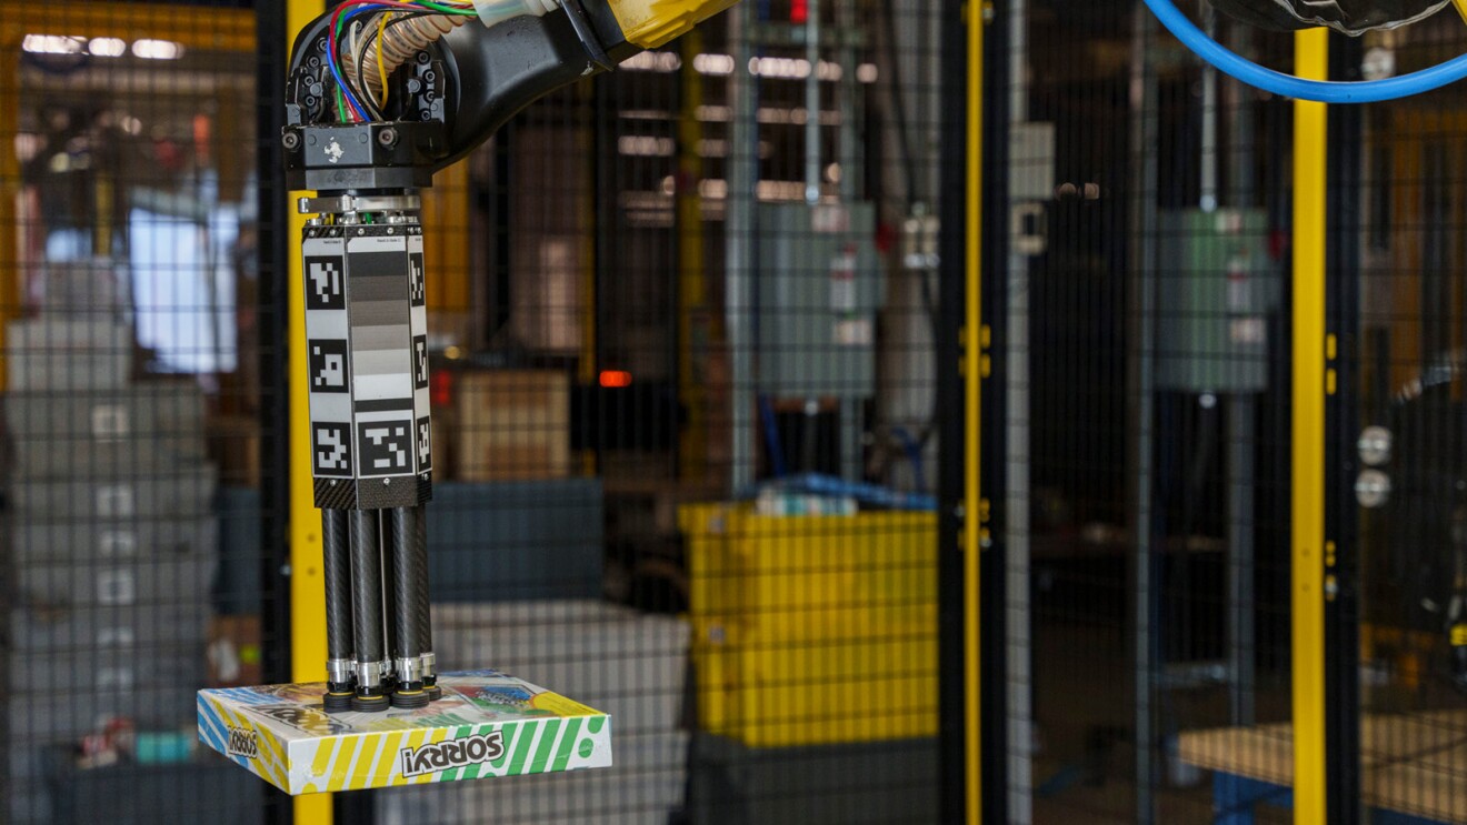
<svg viewBox="0 0 1467 825">
<path fill-rule="evenodd" d="M 1294 40 L 1294 73 L 1329 76 L 1329 34 Z M 1292 659 L 1294 822 L 1325 822 L 1326 108 L 1294 103 Z"/>
</svg>

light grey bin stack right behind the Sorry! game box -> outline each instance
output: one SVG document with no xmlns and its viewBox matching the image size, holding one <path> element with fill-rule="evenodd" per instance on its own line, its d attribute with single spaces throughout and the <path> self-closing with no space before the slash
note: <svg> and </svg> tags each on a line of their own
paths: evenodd
<svg viewBox="0 0 1467 825">
<path fill-rule="evenodd" d="M 688 624 L 596 599 L 434 605 L 447 670 L 494 667 L 612 715 L 612 768 L 387 791 L 378 825 L 665 825 L 684 804 Z"/>
</svg>

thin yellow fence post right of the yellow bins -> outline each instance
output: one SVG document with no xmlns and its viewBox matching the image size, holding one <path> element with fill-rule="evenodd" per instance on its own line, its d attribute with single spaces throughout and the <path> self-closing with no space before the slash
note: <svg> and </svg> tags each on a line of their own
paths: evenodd
<svg viewBox="0 0 1467 825">
<path fill-rule="evenodd" d="M 983 290 L 980 252 L 983 249 L 983 9 L 981 0 L 968 0 L 968 147 L 965 183 L 964 283 L 964 456 L 962 456 L 962 636 L 964 636 L 964 715 L 968 722 L 964 753 L 964 787 L 968 790 L 970 824 L 983 821 L 983 730 L 981 671 L 978 667 L 978 563 L 983 548 L 983 497 L 978 489 L 978 432 L 983 397 Z"/>
</svg>

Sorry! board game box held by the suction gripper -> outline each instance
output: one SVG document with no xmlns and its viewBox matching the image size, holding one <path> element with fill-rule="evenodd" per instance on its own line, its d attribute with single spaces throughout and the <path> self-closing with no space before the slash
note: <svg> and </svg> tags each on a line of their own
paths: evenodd
<svg viewBox="0 0 1467 825">
<path fill-rule="evenodd" d="M 445 674 L 417 711 L 326 714 L 326 686 L 198 692 L 200 739 L 292 794 L 612 765 L 612 717 L 503 674 Z"/>
</svg>

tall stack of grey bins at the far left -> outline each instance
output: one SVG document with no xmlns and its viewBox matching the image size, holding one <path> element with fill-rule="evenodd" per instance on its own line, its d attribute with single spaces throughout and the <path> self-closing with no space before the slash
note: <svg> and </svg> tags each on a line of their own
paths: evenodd
<svg viewBox="0 0 1467 825">
<path fill-rule="evenodd" d="M 128 327 L 79 311 L 10 324 L 6 355 L 0 796 L 22 824 L 51 819 L 48 750 L 189 727 L 219 536 L 195 384 L 129 384 Z"/>
</svg>

